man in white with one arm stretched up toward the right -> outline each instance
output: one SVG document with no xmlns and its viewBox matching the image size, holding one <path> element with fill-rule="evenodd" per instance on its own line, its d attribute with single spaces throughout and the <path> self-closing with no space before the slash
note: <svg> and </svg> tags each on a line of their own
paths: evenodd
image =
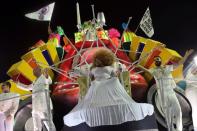
<svg viewBox="0 0 197 131">
<path fill-rule="evenodd" d="M 178 65 L 183 64 L 192 52 L 193 50 L 187 51 L 183 59 L 175 66 L 162 66 L 161 57 L 156 56 L 154 58 L 156 67 L 149 70 L 144 68 L 144 70 L 150 72 L 155 78 L 158 89 L 158 103 L 160 103 L 160 107 L 165 115 L 168 131 L 182 131 L 183 128 L 182 111 L 179 101 L 173 90 L 176 88 L 176 83 L 172 77 L 171 72 Z M 176 128 L 174 127 L 174 124 L 176 124 Z"/>
</svg>

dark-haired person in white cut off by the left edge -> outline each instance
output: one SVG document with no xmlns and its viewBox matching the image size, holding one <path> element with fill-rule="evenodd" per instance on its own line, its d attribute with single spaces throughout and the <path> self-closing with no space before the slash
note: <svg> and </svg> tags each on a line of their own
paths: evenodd
<svg viewBox="0 0 197 131">
<path fill-rule="evenodd" d="M 10 93 L 11 84 L 4 82 L 0 94 L 0 131 L 13 131 L 14 114 L 19 105 L 19 94 Z"/>
</svg>

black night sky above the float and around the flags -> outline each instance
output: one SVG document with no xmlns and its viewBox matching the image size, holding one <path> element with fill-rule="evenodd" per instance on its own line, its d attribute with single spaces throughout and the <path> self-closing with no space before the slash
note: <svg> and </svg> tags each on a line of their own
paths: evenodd
<svg viewBox="0 0 197 131">
<path fill-rule="evenodd" d="M 40 39 L 47 41 L 48 22 L 40 22 L 24 17 L 24 14 L 40 9 L 53 2 L 47 0 L 3 1 L 0 8 L 0 82 L 9 79 L 7 70 L 12 64 L 20 61 L 28 47 Z M 51 28 L 63 27 L 70 38 L 74 38 L 76 28 L 76 0 L 56 0 Z M 187 49 L 197 50 L 197 3 L 179 0 L 78 0 L 82 21 L 92 19 L 91 4 L 95 13 L 103 11 L 106 18 L 106 29 L 115 27 L 120 32 L 122 22 L 127 22 L 134 31 L 141 17 L 149 6 L 155 34 L 152 37 L 175 49 L 181 55 Z M 137 35 L 145 36 L 139 29 Z"/>
</svg>

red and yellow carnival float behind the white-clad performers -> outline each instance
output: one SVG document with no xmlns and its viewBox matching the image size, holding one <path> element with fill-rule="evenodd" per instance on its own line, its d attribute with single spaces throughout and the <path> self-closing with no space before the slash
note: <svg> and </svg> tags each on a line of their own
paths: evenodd
<svg viewBox="0 0 197 131">
<path fill-rule="evenodd" d="M 122 82 L 128 94 L 137 102 L 152 103 L 158 123 L 166 127 L 162 111 L 155 101 L 157 93 L 153 77 L 148 72 L 142 72 L 135 65 L 140 64 L 149 69 L 155 66 L 154 56 L 159 55 L 164 65 L 178 63 L 182 56 L 159 41 L 136 35 L 127 27 L 122 33 L 115 28 L 105 29 L 103 12 L 99 12 L 97 18 L 85 21 L 83 24 L 79 17 L 78 13 L 78 32 L 74 33 L 74 41 L 70 40 L 58 26 L 55 32 L 50 32 L 48 41 L 39 40 L 33 43 L 27 53 L 21 56 L 21 60 L 13 63 L 7 71 L 10 76 L 8 81 L 12 84 L 11 91 L 21 95 L 14 130 L 25 130 L 31 118 L 31 96 L 27 95 L 31 94 L 31 91 L 20 87 L 17 82 L 29 85 L 36 79 L 33 75 L 34 68 L 37 66 L 48 68 L 53 80 L 51 97 L 55 124 L 63 123 L 63 116 L 87 92 L 89 78 L 85 76 L 89 73 L 92 55 L 98 47 L 105 47 L 114 52 L 117 68 L 123 65 L 129 72 L 122 75 Z M 126 79 L 127 77 L 129 79 Z M 183 79 L 183 65 L 173 72 L 173 77 Z M 78 81 L 84 81 L 84 84 L 79 85 Z M 188 129 L 192 125 L 191 105 L 181 89 L 175 91 L 183 112 L 184 128 Z"/>
</svg>

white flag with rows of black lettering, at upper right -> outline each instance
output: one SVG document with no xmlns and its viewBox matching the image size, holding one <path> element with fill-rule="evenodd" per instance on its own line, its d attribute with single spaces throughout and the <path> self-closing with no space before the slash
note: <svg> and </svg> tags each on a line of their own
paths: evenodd
<svg viewBox="0 0 197 131">
<path fill-rule="evenodd" d="M 152 37 L 154 34 L 154 29 L 152 25 L 152 19 L 150 16 L 150 10 L 149 7 L 147 8 L 146 12 L 144 13 L 144 16 L 142 17 L 142 20 L 140 21 L 140 28 L 144 31 L 144 33 L 148 37 Z"/>
</svg>

